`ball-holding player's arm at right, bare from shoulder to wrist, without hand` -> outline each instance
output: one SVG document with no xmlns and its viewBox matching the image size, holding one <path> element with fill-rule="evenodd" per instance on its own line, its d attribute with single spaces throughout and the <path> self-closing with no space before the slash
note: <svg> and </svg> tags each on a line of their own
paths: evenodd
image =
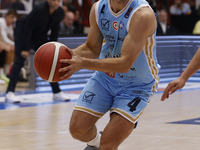
<svg viewBox="0 0 200 150">
<path fill-rule="evenodd" d="M 128 34 L 124 40 L 120 58 L 83 59 L 83 68 L 104 72 L 128 72 L 142 51 L 147 38 L 156 30 L 153 11 L 141 8 L 132 17 Z"/>
</svg>

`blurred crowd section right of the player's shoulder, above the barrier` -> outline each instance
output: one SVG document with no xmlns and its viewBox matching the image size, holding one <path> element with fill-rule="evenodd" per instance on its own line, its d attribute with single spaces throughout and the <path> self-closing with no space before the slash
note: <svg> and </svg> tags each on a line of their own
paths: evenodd
<svg viewBox="0 0 200 150">
<path fill-rule="evenodd" d="M 150 1 L 152 3 L 152 0 Z M 157 35 L 200 34 L 200 26 L 197 25 L 200 11 L 195 0 L 173 0 L 172 5 L 155 11 L 158 18 Z"/>
</svg>

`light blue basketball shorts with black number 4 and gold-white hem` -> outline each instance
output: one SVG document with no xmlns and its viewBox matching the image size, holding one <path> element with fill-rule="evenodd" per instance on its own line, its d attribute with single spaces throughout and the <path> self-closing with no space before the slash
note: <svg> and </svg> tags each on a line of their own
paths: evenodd
<svg viewBox="0 0 200 150">
<path fill-rule="evenodd" d="M 152 96 L 152 86 L 117 86 L 94 74 L 77 99 L 74 110 L 102 117 L 106 112 L 118 113 L 136 124 Z"/>
</svg>

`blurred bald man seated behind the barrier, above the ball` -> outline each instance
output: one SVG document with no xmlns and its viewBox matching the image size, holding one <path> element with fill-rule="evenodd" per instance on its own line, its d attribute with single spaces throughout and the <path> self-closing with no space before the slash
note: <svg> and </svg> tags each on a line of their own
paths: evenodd
<svg viewBox="0 0 200 150">
<path fill-rule="evenodd" d="M 66 12 L 64 19 L 60 23 L 59 36 L 72 36 L 74 34 L 74 18 L 75 15 L 72 11 Z"/>
</svg>

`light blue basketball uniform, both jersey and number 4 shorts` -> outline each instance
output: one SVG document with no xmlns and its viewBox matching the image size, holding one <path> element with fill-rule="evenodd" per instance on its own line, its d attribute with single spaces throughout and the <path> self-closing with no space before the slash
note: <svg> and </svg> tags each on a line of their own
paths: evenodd
<svg viewBox="0 0 200 150">
<path fill-rule="evenodd" d="M 124 9 L 116 14 L 110 8 L 110 0 L 96 3 L 96 22 L 105 39 L 100 59 L 121 57 L 130 20 L 141 7 L 150 6 L 145 0 L 129 0 Z M 136 124 L 159 82 L 155 46 L 154 33 L 128 73 L 96 71 L 82 90 L 74 110 L 96 117 L 110 111 Z"/>
</svg>

